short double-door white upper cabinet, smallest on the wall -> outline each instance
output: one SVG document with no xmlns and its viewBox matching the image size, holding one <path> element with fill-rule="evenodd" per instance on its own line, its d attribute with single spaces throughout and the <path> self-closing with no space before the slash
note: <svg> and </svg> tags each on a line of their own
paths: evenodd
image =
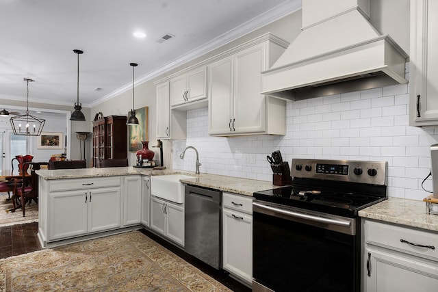
<svg viewBox="0 0 438 292">
<path fill-rule="evenodd" d="M 207 100 L 207 66 L 170 79 L 170 100 L 172 108 Z"/>
</svg>

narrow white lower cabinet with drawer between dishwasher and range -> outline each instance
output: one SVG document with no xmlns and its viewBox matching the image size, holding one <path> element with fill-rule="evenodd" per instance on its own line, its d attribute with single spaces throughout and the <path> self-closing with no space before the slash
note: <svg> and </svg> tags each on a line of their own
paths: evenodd
<svg viewBox="0 0 438 292">
<path fill-rule="evenodd" d="M 253 281 L 253 199 L 222 193 L 223 268 L 247 284 Z"/>
</svg>

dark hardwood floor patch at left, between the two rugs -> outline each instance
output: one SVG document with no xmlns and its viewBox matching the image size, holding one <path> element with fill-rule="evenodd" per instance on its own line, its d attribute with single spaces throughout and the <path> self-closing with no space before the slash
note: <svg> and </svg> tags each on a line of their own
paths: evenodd
<svg viewBox="0 0 438 292">
<path fill-rule="evenodd" d="M 38 222 L 0 227 L 0 258 L 40 250 Z"/>
</svg>

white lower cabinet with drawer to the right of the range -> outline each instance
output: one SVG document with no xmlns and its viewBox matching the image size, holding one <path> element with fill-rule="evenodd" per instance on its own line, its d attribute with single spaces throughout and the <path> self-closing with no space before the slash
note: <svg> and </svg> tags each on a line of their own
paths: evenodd
<svg viewBox="0 0 438 292">
<path fill-rule="evenodd" d="M 363 230 L 363 291 L 437 291 L 438 233 L 373 220 Z"/>
</svg>

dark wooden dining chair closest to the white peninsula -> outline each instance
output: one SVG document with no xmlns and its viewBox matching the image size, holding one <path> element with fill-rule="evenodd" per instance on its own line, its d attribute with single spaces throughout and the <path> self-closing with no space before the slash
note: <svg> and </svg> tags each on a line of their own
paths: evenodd
<svg viewBox="0 0 438 292">
<path fill-rule="evenodd" d="M 23 163 L 23 169 L 28 169 L 28 172 L 23 172 L 21 178 L 15 178 L 14 195 L 12 196 L 12 204 L 14 212 L 16 209 L 23 210 L 23 217 L 25 217 L 25 205 L 27 202 L 31 203 L 34 200 L 38 204 L 38 174 L 36 170 L 40 170 L 41 165 L 49 165 L 48 162 L 26 162 Z M 17 205 L 16 199 L 19 198 L 20 204 Z"/>
</svg>

